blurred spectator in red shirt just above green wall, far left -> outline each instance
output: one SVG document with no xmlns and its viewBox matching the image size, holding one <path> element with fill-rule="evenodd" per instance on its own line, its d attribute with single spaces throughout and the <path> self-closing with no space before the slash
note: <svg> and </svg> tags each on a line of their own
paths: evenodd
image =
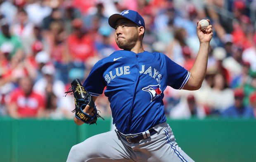
<svg viewBox="0 0 256 162">
<path fill-rule="evenodd" d="M 19 79 L 19 87 L 9 96 L 8 111 L 11 117 L 43 117 L 45 99 L 32 87 L 31 78 L 25 76 Z"/>
</svg>

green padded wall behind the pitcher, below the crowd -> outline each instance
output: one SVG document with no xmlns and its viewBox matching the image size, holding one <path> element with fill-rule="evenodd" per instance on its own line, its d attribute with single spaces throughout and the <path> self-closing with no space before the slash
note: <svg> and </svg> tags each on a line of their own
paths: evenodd
<svg viewBox="0 0 256 162">
<path fill-rule="evenodd" d="M 0 118 L 0 162 L 65 162 L 73 145 L 109 131 L 110 122 L 105 117 L 97 125 L 77 126 L 73 120 Z M 256 120 L 167 122 L 179 146 L 196 162 L 256 161 Z"/>
</svg>

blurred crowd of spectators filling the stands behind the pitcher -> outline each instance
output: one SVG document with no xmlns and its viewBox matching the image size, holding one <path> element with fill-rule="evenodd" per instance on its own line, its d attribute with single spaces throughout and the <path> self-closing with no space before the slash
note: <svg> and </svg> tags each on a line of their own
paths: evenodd
<svg viewBox="0 0 256 162">
<path fill-rule="evenodd" d="M 74 78 L 119 50 L 111 14 L 138 11 L 143 47 L 192 68 L 196 27 L 210 19 L 213 39 L 201 89 L 164 92 L 166 116 L 256 117 L 256 0 L 0 0 L 0 117 L 72 118 Z M 96 101 L 111 115 L 107 97 Z"/>
</svg>

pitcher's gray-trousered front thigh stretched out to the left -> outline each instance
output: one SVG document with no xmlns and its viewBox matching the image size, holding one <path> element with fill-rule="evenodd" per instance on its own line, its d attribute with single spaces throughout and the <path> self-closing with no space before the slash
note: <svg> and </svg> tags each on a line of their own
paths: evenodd
<svg viewBox="0 0 256 162">
<path fill-rule="evenodd" d="M 97 134 L 73 146 L 67 162 L 134 162 L 116 132 Z"/>
</svg>

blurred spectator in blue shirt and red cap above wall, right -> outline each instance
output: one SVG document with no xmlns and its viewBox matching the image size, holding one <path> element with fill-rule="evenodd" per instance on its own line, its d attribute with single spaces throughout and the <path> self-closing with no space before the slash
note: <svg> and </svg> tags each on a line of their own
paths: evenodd
<svg viewBox="0 0 256 162">
<path fill-rule="evenodd" d="M 235 104 L 228 107 L 222 113 L 222 117 L 243 117 L 253 118 L 254 112 L 249 106 L 245 106 L 243 103 L 244 91 L 242 89 L 235 89 L 234 91 Z"/>
</svg>

